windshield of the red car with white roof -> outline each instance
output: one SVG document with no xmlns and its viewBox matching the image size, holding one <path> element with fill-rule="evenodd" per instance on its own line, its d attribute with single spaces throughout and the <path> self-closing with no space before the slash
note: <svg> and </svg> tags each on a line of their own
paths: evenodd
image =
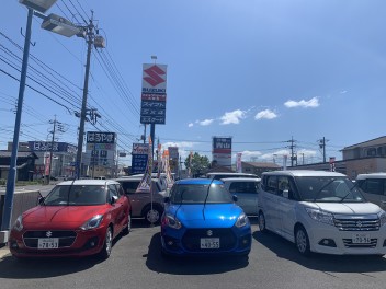
<svg viewBox="0 0 386 289">
<path fill-rule="evenodd" d="M 45 206 L 92 206 L 107 201 L 105 186 L 56 186 L 44 200 Z"/>
</svg>

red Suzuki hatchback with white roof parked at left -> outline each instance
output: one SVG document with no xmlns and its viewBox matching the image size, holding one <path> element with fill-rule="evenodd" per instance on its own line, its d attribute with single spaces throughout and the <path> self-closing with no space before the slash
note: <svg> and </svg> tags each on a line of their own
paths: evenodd
<svg viewBox="0 0 386 289">
<path fill-rule="evenodd" d="M 66 181 L 19 216 L 10 251 L 18 258 L 94 254 L 107 258 L 113 239 L 129 233 L 130 212 L 129 199 L 115 181 Z"/>
</svg>

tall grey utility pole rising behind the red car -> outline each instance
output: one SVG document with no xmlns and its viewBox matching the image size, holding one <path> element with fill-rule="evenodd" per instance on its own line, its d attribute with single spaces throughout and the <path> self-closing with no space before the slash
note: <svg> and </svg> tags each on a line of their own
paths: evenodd
<svg viewBox="0 0 386 289">
<path fill-rule="evenodd" d="M 84 138 L 84 122 L 87 116 L 87 95 L 89 93 L 89 76 L 90 76 L 90 57 L 92 44 L 95 47 L 104 48 L 104 39 L 101 36 L 95 36 L 94 30 L 95 26 L 93 24 L 93 11 L 91 11 L 90 23 L 86 27 L 81 27 L 84 30 L 87 46 L 87 61 L 86 61 L 86 72 L 84 72 L 84 85 L 83 85 L 83 99 L 82 99 L 82 107 L 80 112 L 80 125 L 79 125 L 79 136 L 78 136 L 78 151 L 77 151 L 77 161 L 76 161 L 76 177 L 79 178 L 81 175 L 82 169 L 82 150 L 83 150 L 83 138 Z"/>
</svg>

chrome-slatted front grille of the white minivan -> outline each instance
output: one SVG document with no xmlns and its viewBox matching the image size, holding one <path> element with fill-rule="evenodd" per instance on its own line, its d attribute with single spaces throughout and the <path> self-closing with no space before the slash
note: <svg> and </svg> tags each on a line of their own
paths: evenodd
<svg viewBox="0 0 386 289">
<path fill-rule="evenodd" d="M 334 224 L 340 231 L 379 231 L 378 218 L 341 218 L 336 217 Z"/>
</svg>

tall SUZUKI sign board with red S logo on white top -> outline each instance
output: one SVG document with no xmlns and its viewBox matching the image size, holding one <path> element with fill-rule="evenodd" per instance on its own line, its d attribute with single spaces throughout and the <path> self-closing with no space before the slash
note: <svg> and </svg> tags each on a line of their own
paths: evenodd
<svg viewBox="0 0 386 289">
<path fill-rule="evenodd" d="M 167 111 L 167 66 L 143 66 L 143 91 L 140 103 L 140 123 L 166 123 Z"/>
</svg>

